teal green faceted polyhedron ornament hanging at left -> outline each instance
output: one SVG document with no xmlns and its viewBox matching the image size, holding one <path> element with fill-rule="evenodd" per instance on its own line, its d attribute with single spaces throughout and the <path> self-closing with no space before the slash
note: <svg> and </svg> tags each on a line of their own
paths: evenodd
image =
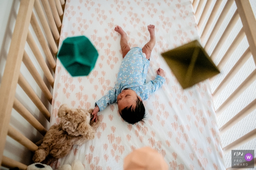
<svg viewBox="0 0 256 170">
<path fill-rule="evenodd" d="M 98 52 L 85 36 L 66 38 L 58 58 L 71 76 L 87 76 L 93 70 Z"/>
</svg>

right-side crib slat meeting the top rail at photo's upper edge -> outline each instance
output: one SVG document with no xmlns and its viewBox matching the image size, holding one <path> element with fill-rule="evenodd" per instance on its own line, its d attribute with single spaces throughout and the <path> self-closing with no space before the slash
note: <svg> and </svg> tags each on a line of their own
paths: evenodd
<svg viewBox="0 0 256 170">
<path fill-rule="evenodd" d="M 228 0 L 227 3 L 225 4 L 222 12 L 221 12 L 221 15 L 219 16 L 216 24 L 214 25 L 214 28 L 212 29 L 212 32 L 204 46 L 204 49 L 206 51 L 209 50 L 211 44 L 212 44 L 212 41 L 214 40 L 214 38 L 216 37 L 218 31 L 219 31 L 219 28 L 221 28 L 221 25 L 227 15 L 227 13 L 229 12 L 229 9 L 231 8 L 232 4 L 233 4 L 234 0 Z"/>
</svg>

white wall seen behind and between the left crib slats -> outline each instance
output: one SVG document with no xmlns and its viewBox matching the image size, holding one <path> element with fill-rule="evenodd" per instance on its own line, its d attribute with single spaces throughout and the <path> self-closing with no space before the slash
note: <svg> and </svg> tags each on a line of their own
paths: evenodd
<svg viewBox="0 0 256 170">
<path fill-rule="evenodd" d="M 4 74 L 4 67 L 7 59 L 8 50 L 10 48 L 12 32 L 14 31 L 14 25 L 16 21 L 16 17 L 19 9 L 19 0 L 0 0 L 0 86 L 1 79 Z M 35 13 L 35 11 L 34 11 Z M 36 13 L 35 13 L 36 14 Z M 32 33 L 34 40 L 40 47 L 40 51 L 45 58 L 44 52 L 41 49 L 39 41 L 33 31 L 33 28 L 29 27 L 30 32 Z M 34 63 L 37 68 L 39 74 L 44 79 L 46 86 L 48 86 L 49 90 L 52 91 L 52 87 L 50 87 L 49 82 L 44 76 L 44 73 L 39 66 L 37 60 L 35 59 L 33 52 L 31 51 L 29 45 L 26 43 L 25 51 L 29 54 L 30 59 Z M 45 58 L 46 60 L 46 58 Z M 46 62 L 49 67 L 49 63 Z M 45 104 L 46 108 L 50 112 L 51 104 L 45 98 L 44 94 L 40 90 L 39 86 L 27 70 L 26 66 L 22 63 L 20 72 L 29 82 L 30 86 L 33 88 L 35 93 L 38 95 L 39 99 Z M 54 76 L 54 75 L 53 75 Z M 39 112 L 38 108 L 35 104 L 30 100 L 30 98 L 26 95 L 26 93 L 22 90 L 22 88 L 17 85 L 15 97 L 29 110 L 33 116 L 46 128 L 49 129 L 49 122 L 44 118 L 44 116 Z M 13 126 L 20 133 L 24 134 L 27 138 L 29 138 L 33 142 L 37 142 L 42 139 L 42 135 L 34 129 L 18 112 L 12 109 L 10 125 Z M 5 140 L 5 139 L 0 139 Z M 31 158 L 33 153 L 20 145 L 18 142 L 14 141 L 12 138 L 7 137 L 4 149 L 4 156 L 14 159 L 15 161 L 19 161 L 24 163 L 25 165 L 30 165 Z M 5 169 L 1 167 L 1 170 Z"/>
</svg>

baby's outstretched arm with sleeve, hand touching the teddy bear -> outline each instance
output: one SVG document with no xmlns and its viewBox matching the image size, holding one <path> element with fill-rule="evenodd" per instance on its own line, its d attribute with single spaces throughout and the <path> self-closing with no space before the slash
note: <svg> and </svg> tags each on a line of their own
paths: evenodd
<svg viewBox="0 0 256 170">
<path fill-rule="evenodd" d="M 112 88 L 108 91 L 107 94 L 102 96 L 101 99 L 99 99 L 95 103 L 95 108 L 93 110 L 93 120 L 95 119 L 95 122 L 97 122 L 97 114 L 99 111 L 104 110 L 109 104 L 112 104 L 116 101 L 116 87 Z"/>
</svg>

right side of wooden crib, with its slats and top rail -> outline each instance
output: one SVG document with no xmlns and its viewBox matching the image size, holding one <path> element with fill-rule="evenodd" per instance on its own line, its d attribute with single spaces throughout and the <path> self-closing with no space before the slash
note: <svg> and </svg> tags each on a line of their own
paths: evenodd
<svg viewBox="0 0 256 170">
<path fill-rule="evenodd" d="M 216 58 L 219 51 L 221 50 L 221 47 L 227 40 L 227 37 L 230 35 L 231 31 L 233 30 L 234 26 L 236 25 L 239 17 L 242 21 L 242 29 L 236 36 L 236 38 L 231 43 L 229 49 L 226 51 L 226 53 L 223 55 L 221 61 L 218 63 L 218 68 L 222 70 L 223 67 L 226 66 L 226 63 L 228 59 L 233 55 L 234 51 L 239 48 L 239 44 L 246 36 L 249 47 L 247 50 L 242 54 L 240 59 L 236 62 L 236 64 L 231 68 L 229 73 L 225 76 L 225 78 L 222 80 L 222 82 L 218 85 L 218 87 L 213 92 L 213 99 L 215 100 L 219 94 L 221 94 L 222 90 L 227 86 L 227 84 L 231 81 L 231 79 L 234 78 L 236 73 L 240 70 L 240 68 L 245 64 L 245 62 L 249 59 L 250 56 L 253 56 L 253 59 L 256 63 L 256 20 L 255 16 L 253 15 L 253 11 L 250 5 L 249 0 L 228 0 L 225 4 L 225 7 L 223 8 L 221 15 L 219 16 L 217 23 L 214 25 L 214 28 L 212 32 L 210 33 L 209 38 L 206 40 L 206 35 L 208 31 L 210 30 L 210 27 L 213 23 L 213 20 L 215 16 L 217 15 L 217 11 L 222 3 L 222 0 L 217 0 L 214 8 L 212 9 L 212 12 L 210 14 L 209 19 L 206 22 L 206 26 L 202 28 L 202 24 L 204 22 L 204 16 L 200 17 L 198 21 L 198 28 L 203 29 L 202 35 L 201 35 L 201 41 L 206 41 L 206 44 L 204 46 L 205 50 L 208 51 L 209 48 L 212 45 L 212 41 L 214 40 L 215 36 L 217 35 L 227 13 L 229 12 L 229 9 L 233 5 L 233 3 L 236 3 L 237 10 L 234 12 L 233 17 L 229 21 L 227 27 L 225 28 L 225 31 L 221 35 L 221 38 L 219 39 L 217 45 L 214 47 L 214 50 L 210 56 L 212 60 Z M 211 4 L 211 0 L 207 0 L 206 5 L 203 9 L 206 11 L 208 9 L 208 5 Z M 199 7 L 201 1 L 198 3 L 197 0 L 193 1 L 193 7 L 195 9 L 196 4 L 198 4 L 198 7 L 196 9 L 196 14 L 200 13 L 201 9 Z M 199 10 L 199 11 L 198 11 Z M 206 15 L 206 13 L 204 13 Z M 196 16 L 197 18 L 198 16 Z M 198 18 L 197 18 L 198 19 Z M 210 79 L 210 82 L 212 83 L 215 80 L 216 77 L 213 77 Z M 242 92 L 244 92 L 254 81 L 256 80 L 256 69 L 240 84 L 240 86 L 237 87 L 237 89 L 219 106 L 216 110 L 217 116 L 221 115 L 223 111 L 226 110 L 227 107 L 230 106 L 236 100 Z M 251 103 L 249 103 L 247 106 L 245 106 L 240 112 L 238 112 L 233 118 L 231 118 L 227 123 L 225 123 L 220 129 L 220 134 L 222 135 L 227 130 L 229 130 L 231 127 L 233 127 L 235 124 L 237 124 L 241 119 L 243 119 L 246 115 L 250 114 L 252 111 L 256 109 L 256 99 L 253 100 Z M 252 130 L 251 132 L 245 134 L 241 138 L 237 139 L 236 141 L 231 142 L 229 145 L 225 146 L 223 148 L 224 154 L 230 152 L 232 149 L 236 149 L 237 147 L 243 145 L 244 143 L 251 141 L 252 139 L 256 138 L 256 129 Z M 230 169 L 230 168 L 228 168 Z"/>
</svg>

